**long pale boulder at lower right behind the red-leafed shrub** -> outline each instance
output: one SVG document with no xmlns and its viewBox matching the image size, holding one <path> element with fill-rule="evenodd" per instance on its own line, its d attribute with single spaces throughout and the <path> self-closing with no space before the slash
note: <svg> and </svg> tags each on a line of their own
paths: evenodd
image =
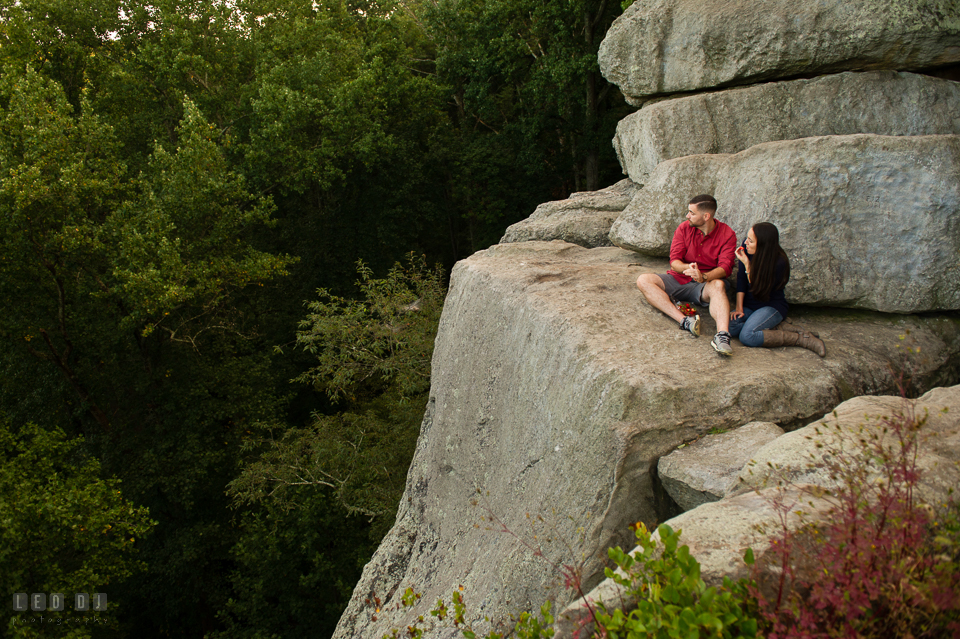
<svg viewBox="0 0 960 639">
<path fill-rule="evenodd" d="M 915 401 L 899 396 L 850 399 L 822 421 L 774 438 L 756 451 L 754 461 L 743 469 L 726 498 L 689 510 L 667 523 L 682 531 L 680 543 L 687 545 L 700 562 L 700 575 L 708 586 L 722 584 L 725 576 L 733 580 L 753 578 L 742 560 L 747 548 L 753 549 L 761 574 L 769 576 L 770 560 L 774 559 L 770 541 L 782 532 L 784 523 L 795 530 L 798 525 L 822 521 L 831 512 L 833 502 L 816 496 L 822 492 L 819 488 L 837 486 L 825 460 L 841 449 L 856 454 L 862 450 L 858 442 L 865 437 L 876 436 L 892 450 L 900 448 L 893 432 L 883 430 L 890 416 L 925 419 L 916 457 L 922 471 L 918 496 L 931 505 L 943 503 L 960 481 L 958 411 L 960 386 L 936 388 Z M 710 459 L 707 451 L 702 452 L 703 459 Z M 774 508 L 775 502 L 793 505 L 784 523 Z M 776 579 L 763 577 L 760 581 L 776 583 Z M 768 597 L 771 594 L 767 593 Z M 606 579 L 559 615 L 556 639 L 575 637 L 578 630 L 580 636 L 588 636 L 582 631 L 592 628 L 590 609 L 598 603 L 627 609 L 636 605 L 613 579 Z"/>
</svg>

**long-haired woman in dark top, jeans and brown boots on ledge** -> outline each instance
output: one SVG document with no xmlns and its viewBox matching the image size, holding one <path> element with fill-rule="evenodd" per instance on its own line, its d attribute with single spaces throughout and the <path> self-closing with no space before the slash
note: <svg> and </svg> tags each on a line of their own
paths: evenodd
<svg viewBox="0 0 960 639">
<path fill-rule="evenodd" d="M 769 222 L 754 224 L 736 252 L 737 307 L 730 313 L 730 336 L 744 346 L 802 346 L 820 357 L 827 354 L 819 335 L 786 322 L 790 260 L 780 248 L 780 232 Z"/>
</svg>

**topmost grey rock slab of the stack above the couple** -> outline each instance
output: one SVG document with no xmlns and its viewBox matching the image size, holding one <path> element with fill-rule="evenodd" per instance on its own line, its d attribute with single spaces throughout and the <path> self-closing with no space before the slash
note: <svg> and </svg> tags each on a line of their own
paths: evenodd
<svg viewBox="0 0 960 639">
<path fill-rule="evenodd" d="M 835 71 L 960 61 L 956 0 L 645 0 L 614 21 L 600 70 L 628 101 Z"/>
</svg>

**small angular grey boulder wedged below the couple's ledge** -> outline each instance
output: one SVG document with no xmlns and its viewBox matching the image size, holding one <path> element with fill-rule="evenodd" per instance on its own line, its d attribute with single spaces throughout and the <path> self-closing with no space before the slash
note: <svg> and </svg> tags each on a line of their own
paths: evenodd
<svg viewBox="0 0 960 639">
<path fill-rule="evenodd" d="M 751 422 L 725 433 L 706 435 L 660 458 L 657 473 L 667 493 L 683 510 L 723 499 L 740 483 L 740 471 L 755 452 L 783 429 Z"/>
</svg>

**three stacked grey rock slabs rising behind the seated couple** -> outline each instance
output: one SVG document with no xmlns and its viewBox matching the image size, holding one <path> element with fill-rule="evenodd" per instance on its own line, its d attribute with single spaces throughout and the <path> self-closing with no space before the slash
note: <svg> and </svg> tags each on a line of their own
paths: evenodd
<svg viewBox="0 0 960 639">
<path fill-rule="evenodd" d="M 686 202 L 712 193 L 741 239 L 778 226 L 791 302 L 960 309 L 958 6 L 635 2 L 600 49 L 642 106 L 614 139 L 642 188 L 610 242 L 666 256 Z"/>
</svg>

